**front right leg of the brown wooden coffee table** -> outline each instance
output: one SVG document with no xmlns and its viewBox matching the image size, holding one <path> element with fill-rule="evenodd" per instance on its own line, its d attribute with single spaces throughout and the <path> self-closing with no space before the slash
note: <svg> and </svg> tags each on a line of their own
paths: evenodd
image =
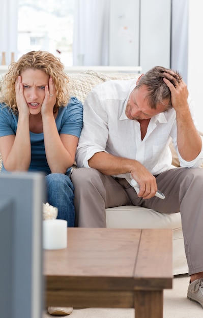
<svg viewBox="0 0 203 318">
<path fill-rule="evenodd" d="M 136 318 L 163 318 L 163 290 L 135 291 Z"/>
</svg>

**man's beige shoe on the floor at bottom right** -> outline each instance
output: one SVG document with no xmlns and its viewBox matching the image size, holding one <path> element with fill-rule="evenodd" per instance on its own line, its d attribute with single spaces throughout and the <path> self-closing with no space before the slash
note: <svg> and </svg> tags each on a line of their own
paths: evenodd
<svg viewBox="0 0 203 318">
<path fill-rule="evenodd" d="M 187 297 L 199 303 L 203 308 L 203 278 L 196 279 L 189 283 Z"/>
</svg>

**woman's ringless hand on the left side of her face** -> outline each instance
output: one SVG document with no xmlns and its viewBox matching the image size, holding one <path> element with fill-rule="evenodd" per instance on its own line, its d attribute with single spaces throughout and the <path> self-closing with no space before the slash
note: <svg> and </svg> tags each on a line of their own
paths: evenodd
<svg viewBox="0 0 203 318">
<path fill-rule="evenodd" d="M 30 116 L 30 110 L 24 98 L 22 78 L 20 75 L 15 81 L 15 94 L 16 94 L 16 103 L 17 103 L 19 115 L 25 114 Z"/>
</svg>

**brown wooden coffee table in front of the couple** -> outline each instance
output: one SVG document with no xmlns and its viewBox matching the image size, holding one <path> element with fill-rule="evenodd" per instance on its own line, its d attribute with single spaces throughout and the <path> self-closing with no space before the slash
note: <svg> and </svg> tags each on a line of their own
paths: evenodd
<svg viewBox="0 0 203 318">
<path fill-rule="evenodd" d="M 68 228 L 68 247 L 44 250 L 45 304 L 135 308 L 163 317 L 172 288 L 172 230 Z"/>
</svg>

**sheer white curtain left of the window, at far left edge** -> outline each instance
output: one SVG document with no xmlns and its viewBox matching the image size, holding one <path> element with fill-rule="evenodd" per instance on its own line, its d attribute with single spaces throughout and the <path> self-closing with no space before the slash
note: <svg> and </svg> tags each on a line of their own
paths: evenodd
<svg viewBox="0 0 203 318">
<path fill-rule="evenodd" d="M 11 53 L 17 57 L 18 0 L 0 0 L 0 65 L 2 52 L 6 52 L 6 64 L 11 62 Z"/>
</svg>

